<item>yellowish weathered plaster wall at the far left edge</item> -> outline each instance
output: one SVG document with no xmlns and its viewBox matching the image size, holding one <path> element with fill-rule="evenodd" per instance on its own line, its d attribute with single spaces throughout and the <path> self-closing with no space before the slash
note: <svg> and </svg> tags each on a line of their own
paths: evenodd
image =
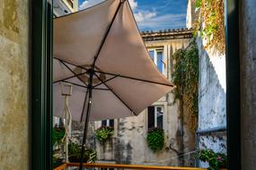
<svg viewBox="0 0 256 170">
<path fill-rule="evenodd" d="M 0 1 L 0 169 L 29 169 L 29 1 Z"/>
</svg>

